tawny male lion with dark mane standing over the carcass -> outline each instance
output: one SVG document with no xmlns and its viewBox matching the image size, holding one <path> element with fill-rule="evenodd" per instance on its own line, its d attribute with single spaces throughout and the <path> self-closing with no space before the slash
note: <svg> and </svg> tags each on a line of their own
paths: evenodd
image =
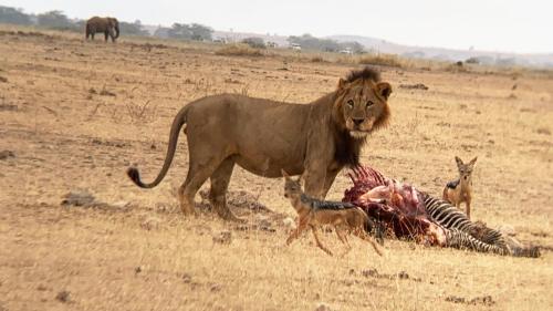
<svg viewBox="0 0 553 311">
<path fill-rule="evenodd" d="M 236 94 L 212 95 L 184 106 L 173 121 L 164 166 L 150 184 L 138 169 L 127 175 L 142 188 L 157 186 L 175 155 L 186 124 L 189 167 L 178 190 L 185 215 L 207 178 L 209 200 L 220 217 L 236 219 L 226 204 L 234 164 L 265 177 L 303 174 L 305 193 L 324 198 L 344 166 L 357 165 L 367 134 L 386 125 L 392 86 L 373 69 L 352 71 L 336 91 L 310 104 L 291 104 Z"/>
</svg>

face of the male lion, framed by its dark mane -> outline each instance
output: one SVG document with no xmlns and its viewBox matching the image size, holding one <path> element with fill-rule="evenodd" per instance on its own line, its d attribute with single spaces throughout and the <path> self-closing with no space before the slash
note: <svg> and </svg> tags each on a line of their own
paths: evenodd
<svg viewBox="0 0 553 311">
<path fill-rule="evenodd" d="M 392 86 L 387 82 L 359 80 L 348 83 L 340 80 L 337 105 L 352 137 L 363 139 L 387 123 L 390 93 Z"/>
</svg>

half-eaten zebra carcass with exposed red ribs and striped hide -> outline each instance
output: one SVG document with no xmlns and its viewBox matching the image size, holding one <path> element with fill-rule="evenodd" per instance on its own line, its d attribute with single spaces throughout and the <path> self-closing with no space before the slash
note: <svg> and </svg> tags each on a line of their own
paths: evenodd
<svg viewBox="0 0 553 311">
<path fill-rule="evenodd" d="M 482 222 L 472 222 L 449 203 L 368 166 L 358 166 L 348 176 L 353 187 L 345 190 L 343 201 L 363 208 L 397 238 L 498 255 L 540 256 L 536 247 L 523 247 Z"/>
</svg>

